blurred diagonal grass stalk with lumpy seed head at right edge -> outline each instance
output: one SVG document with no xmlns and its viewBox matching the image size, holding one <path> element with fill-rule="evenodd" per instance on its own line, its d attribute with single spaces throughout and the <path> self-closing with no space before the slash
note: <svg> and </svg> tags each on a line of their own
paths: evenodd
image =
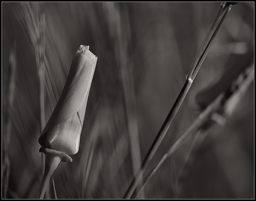
<svg viewBox="0 0 256 201">
<path fill-rule="evenodd" d="M 242 75 L 241 73 L 240 75 Z M 235 109 L 237 108 L 238 104 L 242 101 L 242 98 L 244 97 L 244 94 L 248 90 L 250 84 L 252 83 L 254 78 L 254 64 L 250 67 L 248 67 L 245 70 L 244 73 L 244 80 L 241 81 L 239 88 L 236 91 L 232 92 L 232 95 L 230 95 L 227 99 L 227 95 L 224 93 L 221 93 L 197 118 L 196 120 L 188 127 L 186 132 L 184 132 L 170 147 L 170 149 L 164 154 L 163 158 L 159 161 L 159 163 L 150 171 L 150 173 L 145 177 L 146 182 L 144 182 L 142 189 L 140 189 L 140 192 L 144 189 L 150 178 L 156 173 L 157 169 L 164 163 L 166 159 L 168 159 L 172 153 L 174 153 L 181 145 L 182 142 L 185 141 L 186 138 L 188 138 L 191 135 L 196 135 L 197 132 L 200 132 L 203 126 L 205 126 L 206 123 L 209 123 L 211 120 L 217 122 L 220 125 L 223 125 L 222 122 L 226 122 L 228 118 L 231 117 L 231 115 L 234 113 Z M 239 80 L 239 78 L 237 78 Z M 235 82 L 234 82 L 235 83 Z M 234 84 L 235 85 L 235 84 Z M 230 86 L 230 89 L 226 91 L 227 93 L 230 93 L 231 88 L 235 88 L 232 85 Z M 221 114 L 218 114 L 219 111 L 222 111 Z M 218 115 L 217 118 L 222 118 L 223 120 L 219 121 L 217 118 L 214 118 L 214 116 Z M 206 132 L 203 131 L 204 133 Z M 135 198 L 138 197 L 140 192 L 137 194 Z"/>
</svg>

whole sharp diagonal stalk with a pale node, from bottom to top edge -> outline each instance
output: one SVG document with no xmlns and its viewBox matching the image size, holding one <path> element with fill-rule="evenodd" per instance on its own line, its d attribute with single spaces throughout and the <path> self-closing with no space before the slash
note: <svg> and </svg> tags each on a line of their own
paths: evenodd
<svg viewBox="0 0 256 201">
<path fill-rule="evenodd" d="M 224 8 L 223 8 L 223 6 L 224 6 Z M 228 6 L 228 8 L 226 10 L 227 6 Z M 142 175 L 144 174 L 146 168 L 148 167 L 149 162 L 152 160 L 153 156 L 155 155 L 157 148 L 159 147 L 160 143 L 162 142 L 167 130 L 169 129 L 175 115 L 177 114 L 177 112 L 180 108 L 180 105 L 182 104 L 185 96 L 187 95 L 188 90 L 193 83 L 193 80 L 195 79 L 200 67 L 202 66 L 204 59 L 205 59 L 207 53 L 209 52 L 214 39 L 217 36 L 217 33 L 220 31 L 221 26 L 223 25 L 225 19 L 227 18 L 228 13 L 231 10 L 231 6 L 232 6 L 232 4 L 223 4 L 223 3 L 221 4 L 221 7 L 217 13 L 217 16 L 216 16 L 215 20 L 213 21 L 213 25 L 211 26 L 210 31 L 207 33 L 206 38 L 204 39 L 200 48 L 202 48 L 202 46 L 204 46 L 204 43 L 206 43 L 205 41 L 208 41 L 207 45 L 205 48 L 202 49 L 201 54 L 196 54 L 196 58 L 194 59 L 194 61 L 196 61 L 196 64 L 195 65 L 192 64 L 192 66 L 190 67 L 190 70 L 188 71 L 188 75 L 187 75 L 187 81 L 186 81 L 185 85 L 183 86 L 174 105 L 172 106 L 171 111 L 167 115 L 153 144 L 151 145 L 150 149 L 148 150 L 148 153 L 141 164 L 141 169 L 134 176 L 130 186 L 126 190 L 124 197 L 123 197 L 124 199 L 130 199 L 134 190 L 136 189 L 137 185 L 139 184 L 140 179 L 142 178 Z M 224 11 L 223 11 L 223 9 L 224 9 Z M 224 12 L 224 15 L 223 15 L 222 19 L 220 20 L 220 23 L 218 25 L 215 25 L 215 23 L 218 22 L 218 20 L 216 20 L 216 19 L 219 19 L 223 12 Z M 213 33 L 213 34 L 211 35 L 210 33 Z"/>
</svg>

